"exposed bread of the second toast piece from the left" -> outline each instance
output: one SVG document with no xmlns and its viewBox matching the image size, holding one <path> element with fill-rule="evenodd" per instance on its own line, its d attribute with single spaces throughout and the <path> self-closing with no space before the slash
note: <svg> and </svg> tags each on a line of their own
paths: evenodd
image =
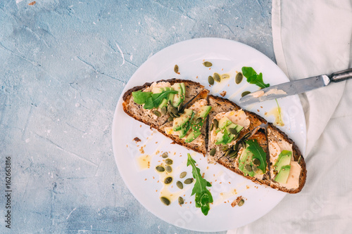
<svg viewBox="0 0 352 234">
<path fill-rule="evenodd" d="M 190 108 L 194 103 L 197 103 L 199 100 L 206 100 L 208 96 L 209 91 L 207 89 L 203 89 L 199 95 L 196 96 L 191 102 L 187 103 L 185 108 Z M 208 103 L 208 101 L 206 101 Z M 206 155 L 206 122 L 203 124 L 203 127 L 201 129 L 201 135 L 196 138 L 195 141 L 192 141 L 190 143 L 186 143 L 184 141 L 184 138 L 180 138 L 178 135 L 173 135 L 173 134 L 168 134 L 165 129 L 170 129 L 172 128 L 172 122 L 166 122 L 162 126 L 158 128 L 158 131 L 160 131 L 162 134 L 167 136 L 168 138 L 171 138 L 174 143 L 177 143 L 179 145 L 182 145 L 186 148 L 189 148 L 190 150 L 194 150 L 196 152 L 200 152 L 204 156 Z"/>
</svg>

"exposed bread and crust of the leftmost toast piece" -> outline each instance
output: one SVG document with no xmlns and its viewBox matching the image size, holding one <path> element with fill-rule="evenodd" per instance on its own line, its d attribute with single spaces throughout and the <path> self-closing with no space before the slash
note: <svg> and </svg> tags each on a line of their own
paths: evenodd
<svg viewBox="0 0 352 234">
<path fill-rule="evenodd" d="M 196 97 L 204 89 L 204 86 L 199 84 L 198 82 L 192 82 L 184 79 L 160 80 L 156 83 L 158 84 L 161 82 L 168 82 L 170 83 L 170 85 L 175 83 L 184 83 L 186 87 L 184 103 L 189 102 L 192 98 Z M 132 97 L 132 92 L 139 90 L 144 91 L 145 89 L 150 87 L 151 84 L 153 83 L 146 83 L 142 86 L 135 86 L 134 88 L 126 91 L 125 94 L 122 96 L 122 100 L 124 101 L 122 103 L 122 107 L 126 114 L 130 115 L 130 117 L 137 119 L 138 121 L 143 122 L 144 124 L 149 125 L 154 129 L 158 129 L 159 126 L 166 122 L 169 116 L 162 115 L 161 117 L 156 117 L 156 115 L 153 114 L 153 110 L 146 110 L 143 108 L 143 105 L 134 103 Z"/>
</svg>

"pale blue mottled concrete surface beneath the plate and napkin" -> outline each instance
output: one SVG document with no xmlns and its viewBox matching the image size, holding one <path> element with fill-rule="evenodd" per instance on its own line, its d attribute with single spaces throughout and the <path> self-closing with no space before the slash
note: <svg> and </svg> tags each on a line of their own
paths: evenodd
<svg viewBox="0 0 352 234">
<path fill-rule="evenodd" d="M 0 1 L 0 216 L 11 230 L 195 233 L 134 199 L 115 165 L 113 112 L 149 56 L 186 39 L 241 41 L 275 60 L 271 1 Z"/>
</svg>

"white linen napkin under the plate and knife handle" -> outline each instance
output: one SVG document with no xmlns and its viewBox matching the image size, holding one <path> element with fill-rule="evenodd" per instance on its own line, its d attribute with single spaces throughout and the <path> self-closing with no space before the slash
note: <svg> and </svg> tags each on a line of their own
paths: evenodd
<svg viewBox="0 0 352 234">
<path fill-rule="evenodd" d="M 277 65 L 291 80 L 352 67 L 352 2 L 272 0 L 272 37 Z M 351 232 L 352 80 L 300 98 L 307 124 L 306 186 L 227 234 Z"/>
</svg>

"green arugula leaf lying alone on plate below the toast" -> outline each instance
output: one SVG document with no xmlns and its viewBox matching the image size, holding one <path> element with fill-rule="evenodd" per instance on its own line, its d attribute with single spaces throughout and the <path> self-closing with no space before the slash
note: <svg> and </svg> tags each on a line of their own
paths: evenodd
<svg viewBox="0 0 352 234">
<path fill-rule="evenodd" d="M 213 202 L 213 196 L 206 187 L 211 187 L 211 184 L 206 181 L 205 178 L 201 177 L 201 170 L 196 167 L 196 161 L 191 158 L 190 154 L 187 155 L 187 167 L 191 165 L 193 177 L 196 179 L 191 195 L 196 194 L 194 200 L 196 202 L 196 207 L 201 207 L 201 212 L 203 212 L 204 215 L 207 215 L 210 209 L 209 204 Z"/>
</svg>

